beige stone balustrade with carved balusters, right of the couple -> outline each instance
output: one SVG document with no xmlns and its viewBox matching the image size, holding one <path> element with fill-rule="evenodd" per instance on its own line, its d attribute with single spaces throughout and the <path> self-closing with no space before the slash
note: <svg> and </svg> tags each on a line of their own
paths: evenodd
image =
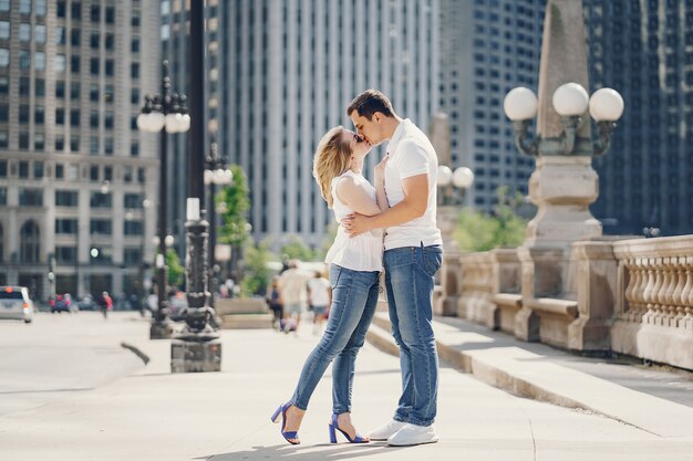
<svg viewBox="0 0 693 461">
<path fill-rule="evenodd" d="M 494 250 L 458 262 L 459 317 L 525 340 L 693 369 L 693 235 L 586 240 L 554 255 Z"/>
</svg>

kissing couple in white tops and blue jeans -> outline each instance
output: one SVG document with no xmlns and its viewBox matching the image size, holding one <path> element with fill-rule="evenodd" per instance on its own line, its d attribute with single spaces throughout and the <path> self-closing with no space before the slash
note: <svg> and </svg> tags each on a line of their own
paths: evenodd
<svg viewBox="0 0 693 461">
<path fill-rule="evenodd" d="M 356 96 L 346 114 L 355 133 L 341 126 L 330 129 L 313 163 L 322 197 L 340 223 L 325 258 L 332 286 L 330 319 L 303 365 L 293 396 L 271 419 L 281 421 L 281 434 L 289 443 L 300 443 L 298 430 L 308 402 L 332 363 L 332 443 L 337 432 L 352 443 L 436 442 L 438 359 L 432 295 L 443 256 L 436 227 L 437 157 L 426 135 L 400 118 L 379 91 Z M 387 154 L 375 167 L 371 185 L 362 176 L 363 160 L 372 146 L 385 140 Z M 383 269 L 392 334 L 400 347 L 402 395 L 392 420 L 363 437 L 351 421 L 351 388 Z"/>
</svg>

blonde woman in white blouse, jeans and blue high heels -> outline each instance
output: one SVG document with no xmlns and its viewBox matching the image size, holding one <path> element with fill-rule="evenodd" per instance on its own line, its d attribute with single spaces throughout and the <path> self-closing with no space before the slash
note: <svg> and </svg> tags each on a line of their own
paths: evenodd
<svg viewBox="0 0 693 461">
<path fill-rule="evenodd" d="M 377 276 L 382 271 L 382 232 L 350 238 L 341 226 L 352 212 L 377 214 L 387 207 L 384 189 L 386 158 L 375 167 L 375 188 L 361 175 L 371 145 L 341 126 L 330 129 L 318 144 L 313 177 L 340 226 L 328 251 L 332 304 L 325 332 L 308 359 L 291 399 L 279 406 L 271 419 L 279 421 L 289 443 L 300 443 L 298 430 L 310 397 L 328 365 L 332 365 L 332 418 L 330 441 L 340 431 L 352 443 L 369 439 L 356 433 L 351 422 L 351 388 L 356 354 L 373 319 L 377 302 Z"/>
</svg>

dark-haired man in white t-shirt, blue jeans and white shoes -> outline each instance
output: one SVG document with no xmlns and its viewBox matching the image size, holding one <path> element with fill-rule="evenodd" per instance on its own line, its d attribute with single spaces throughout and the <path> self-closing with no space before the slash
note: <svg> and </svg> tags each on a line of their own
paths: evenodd
<svg viewBox="0 0 693 461">
<path fill-rule="evenodd" d="M 433 443 L 438 358 L 432 296 L 443 256 L 435 217 L 437 156 L 426 135 L 400 118 L 376 90 L 356 96 L 346 114 L 371 145 L 389 142 L 384 181 L 391 208 L 342 221 L 350 235 L 385 229 L 385 287 L 392 334 L 400 347 L 402 396 L 393 420 L 373 431 L 371 440 L 395 447 Z"/>
</svg>

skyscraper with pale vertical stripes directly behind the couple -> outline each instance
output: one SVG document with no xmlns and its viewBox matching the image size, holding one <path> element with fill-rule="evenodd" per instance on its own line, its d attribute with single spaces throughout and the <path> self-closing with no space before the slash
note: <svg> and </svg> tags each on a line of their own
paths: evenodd
<svg viewBox="0 0 693 461">
<path fill-rule="evenodd" d="M 162 4 L 164 54 L 177 59 L 185 7 Z M 208 136 L 247 174 L 254 237 L 279 245 L 297 234 L 321 247 L 333 218 L 312 178 L 318 140 L 351 127 L 345 108 L 370 87 L 427 129 L 438 101 L 438 1 L 210 0 L 207 24 Z M 381 155 L 374 149 L 364 172 Z"/>
</svg>

